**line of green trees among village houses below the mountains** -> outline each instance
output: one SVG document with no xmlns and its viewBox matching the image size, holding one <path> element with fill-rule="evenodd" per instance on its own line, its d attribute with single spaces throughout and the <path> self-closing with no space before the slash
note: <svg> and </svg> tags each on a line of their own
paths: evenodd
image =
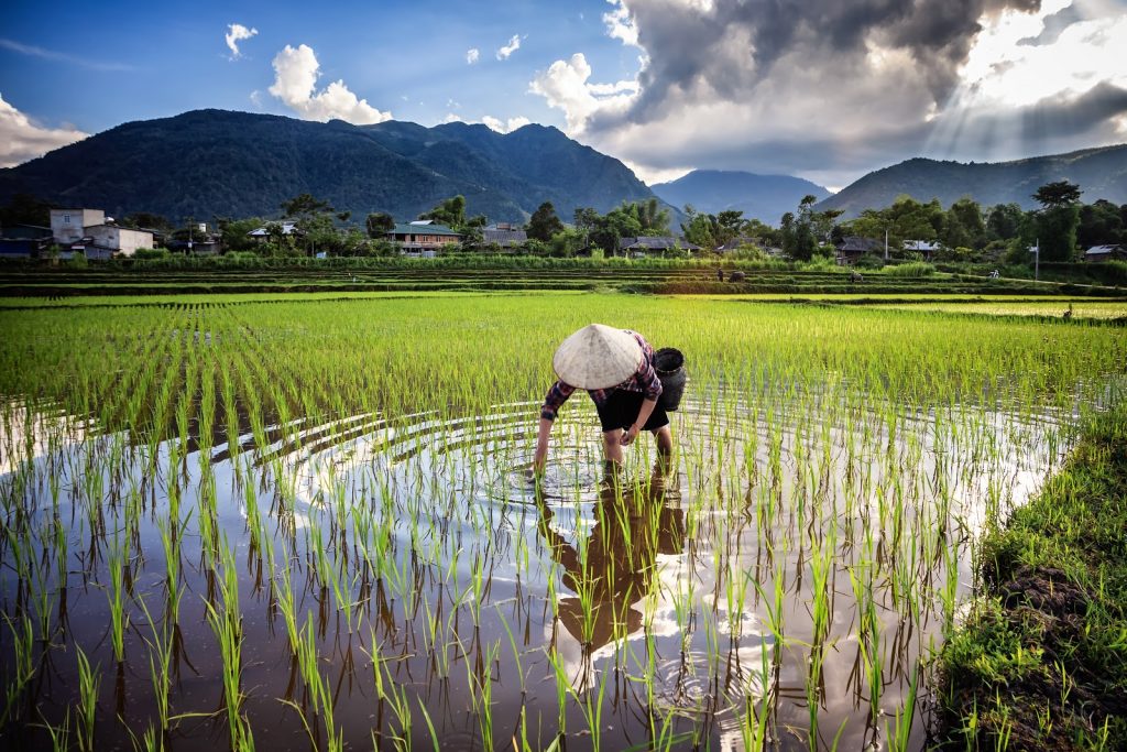
<svg viewBox="0 0 1127 752">
<path fill-rule="evenodd" d="M 699 246 L 704 253 L 724 249 L 744 257 L 771 250 L 796 260 L 809 260 L 819 255 L 832 256 L 835 244 L 858 236 L 880 242 L 887 238 L 893 255 L 898 257 L 912 256 L 912 250 L 904 250 L 906 241 L 922 241 L 939 246 L 932 254 L 932 258 L 939 260 L 1004 258 L 1011 263 L 1028 263 L 1030 247 L 1037 246 L 1042 260 L 1066 262 L 1077 258 L 1091 246 L 1127 242 L 1127 204 L 1120 206 L 1102 198 L 1084 204 L 1082 193 L 1079 185 L 1067 180 L 1049 183 L 1032 194 L 1039 206 L 1028 211 L 1017 203 L 984 209 L 969 196 L 944 209 L 938 198 L 921 202 L 903 195 L 889 206 L 867 209 L 850 220 L 842 220 L 840 210 L 818 211 L 817 200 L 811 195 L 804 197 L 795 212 L 783 214 L 778 227 L 757 219 L 744 219 L 738 210 L 709 214 L 686 205 L 685 219 L 678 229 L 685 244 Z M 50 221 L 50 209 L 45 201 L 17 195 L 7 206 L 0 207 L 0 225 L 45 225 Z M 391 256 L 398 253 L 387 238 L 396 227 L 396 218 L 385 212 L 370 213 L 363 224 L 357 224 L 350 212 L 338 212 L 309 193 L 284 202 L 279 210 L 281 220 L 219 219 L 214 224 L 223 249 L 270 255 L 323 251 L 335 256 Z M 453 253 L 502 250 L 483 241 L 488 219 L 483 214 L 468 215 L 464 196 L 441 201 L 417 219 L 432 220 L 461 235 L 462 242 L 452 249 Z M 623 238 L 674 236 L 672 212 L 656 197 L 627 202 L 606 213 L 579 207 L 570 220 L 565 223 L 556 207 L 544 202 L 523 225 L 527 241 L 514 250 L 542 256 L 616 255 Z M 284 222 L 292 222 L 299 232 L 285 233 Z M 178 240 L 187 239 L 193 232 L 147 212 L 125 216 L 121 224 L 156 229 Z M 248 235 L 263 227 L 267 233 L 265 244 Z M 677 244 L 667 253 L 684 254 Z"/>
</svg>

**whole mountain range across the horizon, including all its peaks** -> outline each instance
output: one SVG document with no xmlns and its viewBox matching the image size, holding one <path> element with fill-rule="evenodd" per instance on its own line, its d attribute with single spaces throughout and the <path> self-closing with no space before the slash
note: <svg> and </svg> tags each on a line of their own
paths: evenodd
<svg viewBox="0 0 1127 752">
<path fill-rule="evenodd" d="M 569 221 L 578 207 L 606 212 L 656 195 L 673 209 L 676 228 L 685 204 L 711 214 L 742 210 L 777 224 L 806 195 L 846 219 L 904 194 L 944 206 L 970 196 L 983 206 L 1032 209 L 1033 192 L 1055 180 L 1079 184 L 1085 203 L 1127 203 L 1127 144 L 993 163 L 909 159 L 834 195 L 797 177 L 721 170 L 695 170 L 651 191 L 618 159 L 542 125 L 502 134 L 465 123 L 352 125 L 201 109 L 125 123 L 0 169 L 0 203 L 24 193 L 179 222 L 277 216 L 282 202 L 310 193 L 356 219 L 381 211 L 405 221 L 461 194 L 470 214 L 520 222 L 545 201 Z"/>
</svg>

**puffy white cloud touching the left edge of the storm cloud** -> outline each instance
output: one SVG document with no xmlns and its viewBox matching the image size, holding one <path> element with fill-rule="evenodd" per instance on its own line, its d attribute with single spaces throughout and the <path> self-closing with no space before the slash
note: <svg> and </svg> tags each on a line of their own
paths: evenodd
<svg viewBox="0 0 1127 752">
<path fill-rule="evenodd" d="M 529 90 L 544 97 L 549 107 L 564 110 L 569 133 L 582 133 L 596 113 L 624 112 L 638 90 L 636 81 L 588 83 L 589 78 L 591 64 L 577 52 L 538 72 Z"/>
</svg>

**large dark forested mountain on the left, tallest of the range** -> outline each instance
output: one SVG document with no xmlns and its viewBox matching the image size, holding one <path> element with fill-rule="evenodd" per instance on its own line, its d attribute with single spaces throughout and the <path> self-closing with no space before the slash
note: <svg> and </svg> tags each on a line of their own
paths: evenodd
<svg viewBox="0 0 1127 752">
<path fill-rule="evenodd" d="M 0 202 L 29 193 L 51 202 L 183 218 L 276 216 L 311 193 L 357 219 L 414 219 L 462 194 L 471 214 L 522 221 L 544 201 L 570 220 L 651 197 L 622 162 L 554 127 L 508 134 L 485 125 L 357 126 L 203 109 L 126 123 L 18 167 L 0 169 Z"/>
</svg>

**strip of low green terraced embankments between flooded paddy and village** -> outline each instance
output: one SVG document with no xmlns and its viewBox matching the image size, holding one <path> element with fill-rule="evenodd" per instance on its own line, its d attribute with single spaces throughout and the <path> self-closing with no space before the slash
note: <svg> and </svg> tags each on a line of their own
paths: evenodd
<svg viewBox="0 0 1127 752">
<path fill-rule="evenodd" d="M 309 260 L 309 259 L 301 259 Z M 601 291 L 639 294 L 815 295 L 1037 295 L 1122 298 L 1122 287 L 985 275 L 944 274 L 930 265 L 891 266 L 853 277 L 850 269 L 782 262 L 715 263 L 674 259 L 323 259 L 292 266 L 113 263 L 89 267 L 14 265 L 0 269 L 0 297 L 286 294 L 360 292 Z M 721 281 L 718 269 L 722 268 Z M 743 275 L 731 280 L 734 272 Z"/>
</svg>

